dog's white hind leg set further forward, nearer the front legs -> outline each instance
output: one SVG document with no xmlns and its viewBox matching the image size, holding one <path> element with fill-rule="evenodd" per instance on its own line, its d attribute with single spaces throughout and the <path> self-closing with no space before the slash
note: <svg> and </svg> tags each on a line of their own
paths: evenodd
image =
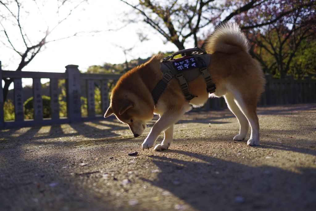
<svg viewBox="0 0 316 211">
<path fill-rule="evenodd" d="M 231 93 L 228 93 L 224 96 L 225 101 L 227 103 L 228 108 L 233 112 L 233 114 L 237 117 L 239 122 L 239 134 L 234 137 L 235 141 L 244 140 L 249 130 L 249 123 L 246 116 L 239 109 L 237 104 L 234 101 L 234 96 Z"/>
</svg>

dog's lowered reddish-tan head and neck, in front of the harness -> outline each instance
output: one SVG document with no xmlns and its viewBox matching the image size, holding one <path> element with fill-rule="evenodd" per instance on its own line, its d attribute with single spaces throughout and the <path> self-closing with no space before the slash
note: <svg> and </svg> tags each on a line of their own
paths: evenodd
<svg viewBox="0 0 316 211">
<path fill-rule="evenodd" d="M 134 137 L 143 134 L 146 122 L 154 117 L 155 104 L 145 80 L 148 79 L 146 74 L 152 74 L 150 69 L 160 70 L 160 59 L 161 55 L 156 55 L 144 65 L 126 72 L 112 90 L 110 106 L 104 117 L 114 114 L 128 124 Z"/>
</svg>

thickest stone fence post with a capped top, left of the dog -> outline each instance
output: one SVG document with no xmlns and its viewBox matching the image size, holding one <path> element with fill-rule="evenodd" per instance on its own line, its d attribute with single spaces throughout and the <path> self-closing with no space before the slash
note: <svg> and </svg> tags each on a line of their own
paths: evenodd
<svg viewBox="0 0 316 211">
<path fill-rule="evenodd" d="M 81 89 L 78 65 L 67 65 L 67 116 L 70 122 L 81 121 Z"/>
</svg>

